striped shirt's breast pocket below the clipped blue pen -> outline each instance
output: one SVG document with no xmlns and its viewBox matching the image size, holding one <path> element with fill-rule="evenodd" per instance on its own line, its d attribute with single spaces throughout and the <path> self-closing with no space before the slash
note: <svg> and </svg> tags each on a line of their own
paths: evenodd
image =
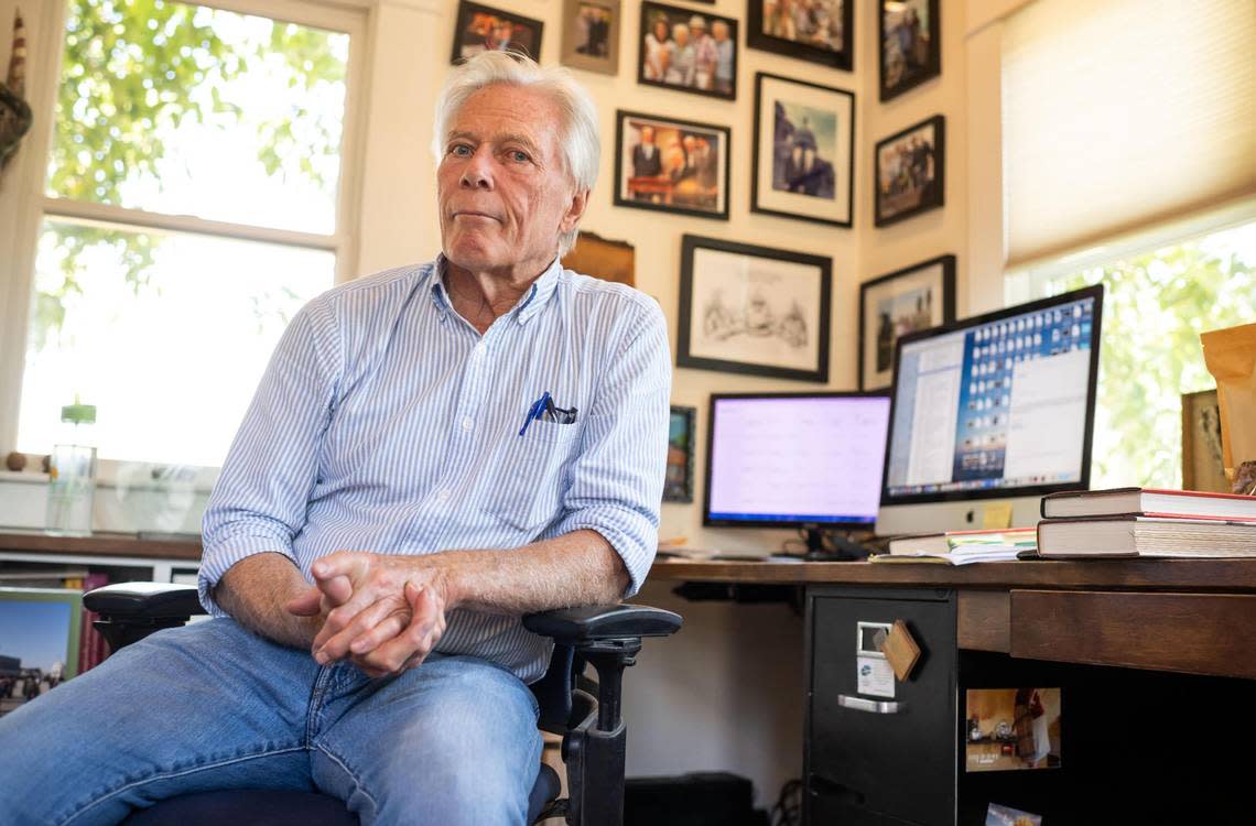
<svg viewBox="0 0 1256 826">
<path fill-rule="evenodd" d="M 534 421 L 511 436 L 489 475 L 487 511 L 531 539 L 558 518 L 566 472 L 579 449 L 580 426 Z"/>
</svg>

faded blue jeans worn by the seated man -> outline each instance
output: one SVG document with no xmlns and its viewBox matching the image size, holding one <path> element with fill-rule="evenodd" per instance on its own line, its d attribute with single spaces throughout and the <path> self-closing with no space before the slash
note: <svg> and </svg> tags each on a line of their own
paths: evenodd
<svg viewBox="0 0 1256 826">
<path fill-rule="evenodd" d="M 536 700 L 472 657 L 373 680 L 230 619 L 158 631 L 0 718 L 0 820 L 116 823 L 217 788 L 320 791 L 362 823 L 524 823 Z"/>
</svg>

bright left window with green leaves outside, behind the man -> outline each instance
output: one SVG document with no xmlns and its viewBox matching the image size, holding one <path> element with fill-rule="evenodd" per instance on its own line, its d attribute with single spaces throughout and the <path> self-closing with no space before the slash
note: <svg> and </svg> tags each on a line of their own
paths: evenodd
<svg viewBox="0 0 1256 826">
<path fill-rule="evenodd" d="M 219 466 L 288 320 L 347 272 L 359 15 L 69 0 L 18 447 Z"/>
</svg>

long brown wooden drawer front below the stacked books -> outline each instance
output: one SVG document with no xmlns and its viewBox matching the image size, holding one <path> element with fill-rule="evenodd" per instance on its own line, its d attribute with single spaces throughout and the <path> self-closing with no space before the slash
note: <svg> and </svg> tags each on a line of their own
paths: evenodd
<svg viewBox="0 0 1256 826">
<path fill-rule="evenodd" d="M 1011 655 L 1256 679 L 1256 595 L 1012 591 Z"/>
</svg>

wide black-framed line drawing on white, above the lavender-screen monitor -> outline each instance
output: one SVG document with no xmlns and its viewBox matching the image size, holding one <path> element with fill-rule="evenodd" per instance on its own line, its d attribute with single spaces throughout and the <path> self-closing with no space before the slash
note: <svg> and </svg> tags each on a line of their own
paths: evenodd
<svg viewBox="0 0 1256 826">
<path fill-rule="evenodd" d="M 686 235 L 676 364 L 829 380 L 833 260 Z"/>
</svg>

